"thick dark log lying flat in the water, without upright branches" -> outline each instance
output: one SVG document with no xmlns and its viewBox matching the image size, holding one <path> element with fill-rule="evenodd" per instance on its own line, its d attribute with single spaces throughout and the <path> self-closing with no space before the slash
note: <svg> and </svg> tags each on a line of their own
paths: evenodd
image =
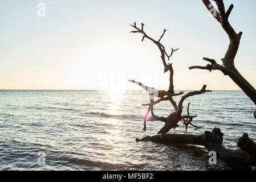
<svg viewBox="0 0 256 182">
<path fill-rule="evenodd" d="M 223 133 L 219 128 L 214 128 L 212 132 L 205 131 L 201 135 L 192 134 L 165 134 L 147 136 L 136 141 L 152 141 L 162 144 L 193 144 L 205 146 L 208 151 L 215 151 L 217 158 L 223 159 L 226 162 L 239 163 L 246 165 L 256 164 L 256 144 L 247 134 L 243 134 L 238 139 L 237 146 L 241 149 L 231 150 L 222 145 Z"/>
</svg>

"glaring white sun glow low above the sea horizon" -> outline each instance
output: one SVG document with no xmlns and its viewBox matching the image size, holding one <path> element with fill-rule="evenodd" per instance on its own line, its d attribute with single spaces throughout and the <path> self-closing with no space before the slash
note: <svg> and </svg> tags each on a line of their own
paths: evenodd
<svg viewBox="0 0 256 182">
<path fill-rule="evenodd" d="M 72 65 L 70 84 L 84 89 L 109 90 L 118 94 L 131 88 L 127 81 L 133 78 L 135 68 L 143 67 L 142 59 L 133 44 L 121 40 L 101 42 L 84 48 L 83 54 Z M 143 75 L 139 69 L 139 76 Z"/>
</svg>

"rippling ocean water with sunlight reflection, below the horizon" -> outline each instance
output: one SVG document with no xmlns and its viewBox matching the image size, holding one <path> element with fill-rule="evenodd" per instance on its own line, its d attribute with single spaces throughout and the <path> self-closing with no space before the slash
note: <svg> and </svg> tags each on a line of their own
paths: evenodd
<svg viewBox="0 0 256 182">
<path fill-rule="evenodd" d="M 188 91 L 185 91 L 187 93 Z M 175 101 L 180 96 L 174 97 Z M 161 121 L 147 122 L 144 91 L 0 90 L 0 170 L 207 170 L 230 164 L 208 163 L 204 147 L 165 146 L 135 142 L 156 134 Z M 220 127 L 224 145 L 237 148 L 243 133 L 256 140 L 255 105 L 241 91 L 213 91 L 187 103 L 197 115 L 185 131 L 180 122 L 169 133 L 202 134 Z M 174 111 L 169 101 L 155 105 L 155 114 Z M 39 153 L 45 156 L 45 164 Z M 40 154 L 41 154 L 40 153 Z"/>
</svg>

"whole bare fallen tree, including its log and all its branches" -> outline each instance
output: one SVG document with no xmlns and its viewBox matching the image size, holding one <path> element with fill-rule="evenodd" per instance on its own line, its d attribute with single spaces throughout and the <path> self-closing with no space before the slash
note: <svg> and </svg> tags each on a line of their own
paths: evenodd
<svg viewBox="0 0 256 182">
<path fill-rule="evenodd" d="M 203 59 L 209 61 L 211 64 L 206 65 L 205 67 L 201 66 L 193 66 L 189 67 L 189 69 L 207 69 L 210 72 L 214 69 L 222 71 L 224 75 L 228 75 L 242 90 L 246 93 L 246 95 L 251 99 L 251 101 L 256 104 L 256 90 L 253 86 L 250 85 L 249 82 L 242 77 L 242 75 L 237 71 L 234 66 L 234 58 L 237 53 L 239 42 L 242 36 L 242 32 L 236 34 L 233 28 L 230 26 L 228 22 L 228 17 L 233 9 L 233 5 L 229 7 L 227 11 L 225 11 L 224 3 L 222 0 L 214 0 L 218 6 L 219 13 L 214 9 L 212 4 L 209 0 L 202 0 L 205 6 L 208 8 L 209 11 L 215 10 L 216 11 L 216 18 L 218 22 L 221 23 L 221 26 L 227 32 L 227 35 L 230 39 L 229 48 L 227 49 L 226 55 L 224 59 L 222 59 L 222 65 L 218 64 L 214 59 L 209 59 L 204 57 Z M 210 6 L 211 5 L 211 6 Z M 136 26 L 136 23 L 131 25 L 135 28 L 135 31 L 131 31 L 133 33 L 141 33 L 143 34 L 142 41 L 147 38 L 151 40 L 153 43 L 157 45 L 161 52 L 161 60 L 164 64 L 164 72 L 170 71 L 170 81 L 169 81 L 169 89 L 173 89 L 173 68 L 172 64 L 166 64 L 165 56 L 170 59 L 173 55 L 174 51 L 177 49 L 171 49 L 170 55 L 166 53 L 165 47 L 160 43 L 160 40 L 164 36 L 166 30 L 162 33 L 159 40 L 155 40 L 148 36 L 144 32 L 144 24 L 141 23 L 141 28 Z M 249 138 L 249 136 L 244 133 L 242 137 L 240 137 L 237 141 L 237 146 L 239 147 L 236 150 L 231 150 L 223 146 L 223 133 L 218 128 L 214 128 L 212 132 L 205 131 L 204 134 L 201 135 L 192 135 L 192 134 L 167 134 L 169 130 L 175 129 L 178 126 L 178 122 L 183 119 L 184 125 L 187 129 L 188 125 L 192 125 L 192 119 L 196 117 L 196 115 L 192 116 L 189 115 L 189 105 L 187 108 L 187 115 L 182 115 L 182 106 L 184 100 L 190 96 L 195 96 L 197 94 L 202 94 L 205 92 L 212 92 L 212 90 L 206 90 L 206 85 L 202 87 L 201 90 L 189 92 L 181 97 L 180 102 L 178 105 L 173 100 L 172 97 L 166 96 L 161 97 L 159 100 L 155 101 L 154 104 L 157 104 L 161 101 L 170 101 L 175 109 L 173 113 L 170 113 L 167 117 L 153 117 L 151 121 L 162 121 L 164 122 L 164 126 L 158 131 L 157 135 L 154 136 L 147 136 L 141 139 L 136 138 L 136 141 L 152 141 L 156 143 L 163 143 L 163 144 L 193 144 L 204 146 L 208 151 L 215 151 L 217 153 L 218 158 L 224 159 L 227 162 L 231 163 L 239 163 L 239 164 L 246 164 L 246 165 L 256 165 L 256 144 Z M 150 104 L 143 104 L 143 106 L 147 106 Z M 254 111 L 254 117 L 256 118 L 256 110 Z M 149 120 L 150 121 L 150 120 Z M 194 126 L 194 125 L 192 125 Z M 197 127 L 197 126 L 194 126 Z"/>
</svg>

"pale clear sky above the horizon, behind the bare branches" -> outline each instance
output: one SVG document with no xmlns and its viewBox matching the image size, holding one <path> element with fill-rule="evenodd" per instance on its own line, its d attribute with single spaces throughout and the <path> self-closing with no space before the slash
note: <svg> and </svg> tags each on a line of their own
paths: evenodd
<svg viewBox="0 0 256 182">
<path fill-rule="evenodd" d="M 46 16 L 37 15 L 38 3 Z M 242 31 L 235 65 L 256 86 L 256 1 L 226 0 L 234 9 L 230 23 Z M 148 35 L 180 48 L 171 59 L 174 89 L 235 90 L 220 71 L 189 70 L 221 63 L 229 39 L 201 1 L 1 1 L 0 89 L 139 89 L 128 79 L 168 89 L 160 51 L 130 23 L 145 23 Z"/>
</svg>

